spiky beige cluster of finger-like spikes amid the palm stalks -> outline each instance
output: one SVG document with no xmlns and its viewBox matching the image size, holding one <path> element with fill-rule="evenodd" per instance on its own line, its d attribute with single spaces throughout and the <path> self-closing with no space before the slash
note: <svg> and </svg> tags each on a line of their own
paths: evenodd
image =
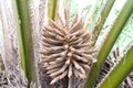
<svg viewBox="0 0 133 88">
<path fill-rule="evenodd" d="M 52 78 L 51 85 L 63 78 L 85 79 L 90 64 L 95 61 L 92 33 L 86 31 L 82 18 L 75 14 L 70 25 L 69 10 L 49 20 L 42 33 L 42 64 Z"/>
</svg>

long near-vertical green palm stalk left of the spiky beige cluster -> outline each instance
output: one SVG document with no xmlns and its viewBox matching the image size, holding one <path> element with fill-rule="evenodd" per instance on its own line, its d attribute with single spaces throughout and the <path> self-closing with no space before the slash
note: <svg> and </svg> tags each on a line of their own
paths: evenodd
<svg viewBox="0 0 133 88">
<path fill-rule="evenodd" d="M 21 50 L 23 50 L 21 53 L 24 55 L 22 59 L 24 59 L 24 66 L 25 66 L 25 75 L 28 77 L 29 84 L 31 81 L 35 82 L 38 85 L 38 77 L 37 77 L 37 65 L 33 54 L 33 43 L 32 43 L 32 35 L 31 35 L 31 20 L 30 20 L 30 12 L 28 7 L 27 0 L 17 0 L 17 7 L 18 7 L 18 14 L 19 19 L 21 21 L 20 23 L 20 44 Z"/>
</svg>

